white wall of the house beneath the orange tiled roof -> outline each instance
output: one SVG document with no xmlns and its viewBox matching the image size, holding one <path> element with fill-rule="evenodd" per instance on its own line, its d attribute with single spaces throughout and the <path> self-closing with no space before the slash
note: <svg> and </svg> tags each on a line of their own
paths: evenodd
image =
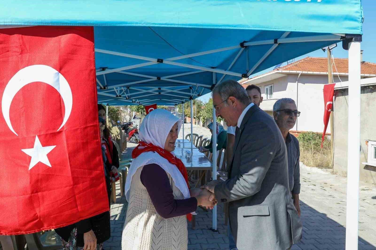
<svg viewBox="0 0 376 250">
<path fill-rule="evenodd" d="M 297 102 L 297 108 L 301 112 L 297 119 L 297 124 L 293 130 L 297 131 L 313 131 L 322 133 L 324 130 L 324 97 L 323 85 L 328 83 L 327 75 L 306 75 L 289 74 L 271 81 L 257 84 L 261 88 L 261 94 L 264 101 L 260 108 L 273 115 L 271 110 L 273 104 L 280 98 L 291 98 Z M 338 77 L 334 77 L 335 81 L 339 81 Z M 347 77 L 341 77 L 342 81 L 347 81 Z M 249 82 L 252 84 L 252 81 Z M 265 86 L 273 84 L 273 98 L 266 99 Z M 299 95 L 299 96 L 297 96 Z M 330 125 L 326 133 L 331 133 Z"/>
</svg>

